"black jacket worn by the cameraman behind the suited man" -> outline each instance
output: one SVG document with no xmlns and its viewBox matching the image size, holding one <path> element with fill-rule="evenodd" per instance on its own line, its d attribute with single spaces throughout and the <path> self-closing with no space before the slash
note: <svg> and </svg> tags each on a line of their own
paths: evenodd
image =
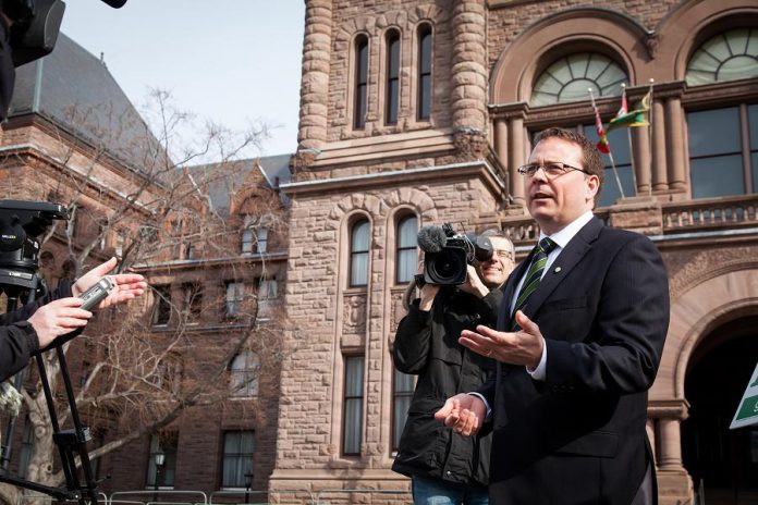
<svg viewBox="0 0 758 505">
<path fill-rule="evenodd" d="M 494 327 L 501 290 L 484 298 L 443 287 L 429 312 L 411 305 L 398 325 L 393 358 L 398 370 L 418 375 L 392 469 L 406 476 L 435 477 L 485 486 L 489 478 L 491 429 L 463 436 L 435 419 L 444 402 L 476 391 L 494 370 L 492 359 L 459 344 L 461 331 Z"/>
</svg>

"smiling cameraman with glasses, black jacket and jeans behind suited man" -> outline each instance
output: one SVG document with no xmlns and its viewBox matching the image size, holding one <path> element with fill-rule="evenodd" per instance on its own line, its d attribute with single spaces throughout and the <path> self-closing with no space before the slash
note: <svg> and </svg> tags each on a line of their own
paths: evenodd
<svg viewBox="0 0 758 505">
<path fill-rule="evenodd" d="M 459 286 L 424 285 L 398 325 L 394 365 L 418 381 L 392 469 L 411 477 L 415 505 L 488 503 L 491 433 L 466 438 L 435 419 L 448 397 L 474 391 L 494 370 L 492 360 L 457 343 L 461 331 L 496 323 L 500 287 L 514 267 L 513 243 L 504 233 L 488 230 L 482 236 L 492 244 L 492 257 L 468 266 Z"/>
</svg>

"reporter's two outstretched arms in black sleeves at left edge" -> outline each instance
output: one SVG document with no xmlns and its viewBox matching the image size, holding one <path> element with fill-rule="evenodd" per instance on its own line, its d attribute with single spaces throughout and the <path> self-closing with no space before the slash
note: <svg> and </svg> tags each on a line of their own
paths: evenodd
<svg viewBox="0 0 758 505">
<path fill-rule="evenodd" d="M 78 308 L 82 293 L 111 272 L 115 258 L 95 267 L 72 283 L 62 280 L 58 287 L 42 298 L 26 304 L 13 312 L 0 315 L 0 382 L 24 368 L 32 356 L 44 350 L 57 337 L 81 331 L 93 313 Z M 136 273 L 110 275 L 115 288 L 99 308 L 129 301 L 147 288 L 145 279 Z M 73 335 L 70 335 L 73 336 Z"/>
</svg>

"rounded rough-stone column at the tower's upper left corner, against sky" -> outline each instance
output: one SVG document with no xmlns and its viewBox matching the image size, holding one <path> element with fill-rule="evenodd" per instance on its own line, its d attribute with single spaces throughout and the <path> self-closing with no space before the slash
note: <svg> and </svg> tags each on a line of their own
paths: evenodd
<svg viewBox="0 0 758 505">
<path fill-rule="evenodd" d="M 327 140 L 331 30 L 331 0 L 306 0 L 298 150 L 318 150 Z"/>
</svg>

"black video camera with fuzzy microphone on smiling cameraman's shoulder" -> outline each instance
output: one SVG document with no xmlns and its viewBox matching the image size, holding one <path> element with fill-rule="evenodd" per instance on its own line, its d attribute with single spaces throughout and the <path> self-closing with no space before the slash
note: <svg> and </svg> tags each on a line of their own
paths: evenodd
<svg viewBox="0 0 758 505">
<path fill-rule="evenodd" d="M 424 251 L 424 282 L 457 285 L 466 281 L 467 266 L 492 257 L 492 244 L 486 236 L 455 233 L 450 223 L 424 226 L 416 238 Z"/>
</svg>

